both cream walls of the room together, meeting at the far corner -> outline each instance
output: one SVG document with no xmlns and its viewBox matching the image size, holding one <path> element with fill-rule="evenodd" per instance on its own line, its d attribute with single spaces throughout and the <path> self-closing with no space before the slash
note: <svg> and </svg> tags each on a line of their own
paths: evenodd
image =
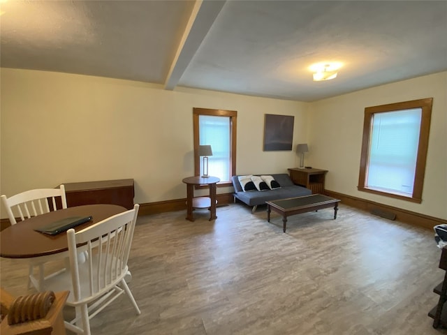
<svg viewBox="0 0 447 335">
<path fill-rule="evenodd" d="M 63 182 L 135 179 L 135 202 L 186 198 L 193 175 L 193 107 L 237 110 L 237 174 L 298 166 L 294 151 L 263 151 L 264 114 L 295 116 L 293 147 L 329 170 L 326 188 L 447 218 L 447 72 L 316 103 L 256 98 L 34 70 L 1 69 L 1 193 Z M 433 97 L 423 202 L 357 191 L 365 107 Z M 219 189 L 227 193 L 231 188 Z M 1 214 L 4 218 L 5 215 Z"/>
</svg>

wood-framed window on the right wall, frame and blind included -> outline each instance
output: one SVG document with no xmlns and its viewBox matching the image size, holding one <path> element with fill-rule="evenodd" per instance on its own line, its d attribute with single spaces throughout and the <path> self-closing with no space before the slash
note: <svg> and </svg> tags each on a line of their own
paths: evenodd
<svg viewBox="0 0 447 335">
<path fill-rule="evenodd" d="M 432 101 L 365 108 L 359 191 L 422 202 Z"/>
</svg>

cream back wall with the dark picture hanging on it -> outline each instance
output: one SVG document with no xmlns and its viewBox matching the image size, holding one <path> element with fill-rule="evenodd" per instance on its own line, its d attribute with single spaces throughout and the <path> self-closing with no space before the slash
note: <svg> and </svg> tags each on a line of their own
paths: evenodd
<svg viewBox="0 0 447 335">
<path fill-rule="evenodd" d="M 34 70 L 2 68 L 0 74 L 6 195 L 133 178 L 135 202 L 186 198 L 193 107 L 237 110 L 238 174 L 287 172 L 297 163 L 294 151 L 263 151 L 264 114 L 293 115 L 294 147 L 306 140 L 307 103 Z"/>
</svg>

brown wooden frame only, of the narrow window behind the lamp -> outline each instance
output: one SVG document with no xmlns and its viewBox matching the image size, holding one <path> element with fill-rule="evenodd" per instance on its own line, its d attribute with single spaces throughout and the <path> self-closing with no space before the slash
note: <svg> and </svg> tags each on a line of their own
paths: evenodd
<svg viewBox="0 0 447 335">
<path fill-rule="evenodd" d="M 235 110 L 212 110 L 208 108 L 193 107 L 193 128 L 194 128 L 194 175 L 200 176 L 200 156 L 199 147 L 199 123 L 200 115 L 210 115 L 214 117 L 230 117 L 230 179 L 236 174 L 236 133 L 237 133 L 237 111 Z M 217 184 L 218 187 L 233 186 L 230 181 L 223 181 Z"/>
</svg>

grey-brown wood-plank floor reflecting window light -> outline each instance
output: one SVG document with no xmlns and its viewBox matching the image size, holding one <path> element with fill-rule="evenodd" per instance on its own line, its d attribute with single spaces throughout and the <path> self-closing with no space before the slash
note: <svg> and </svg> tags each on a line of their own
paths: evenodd
<svg viewBox="0 0 447 335">
<path fill-rule="evenodd" d="M 243 204 L 138 218 L 126 297 L 92 334 L 430 335 L 444 271 L 433 232 L 340 204 L 281 217 Z M 1 260 L 1 285 L 26 288 L 27 267 Z M 71 334 L 71 333 L 68 333 Z"/>
</svg>

